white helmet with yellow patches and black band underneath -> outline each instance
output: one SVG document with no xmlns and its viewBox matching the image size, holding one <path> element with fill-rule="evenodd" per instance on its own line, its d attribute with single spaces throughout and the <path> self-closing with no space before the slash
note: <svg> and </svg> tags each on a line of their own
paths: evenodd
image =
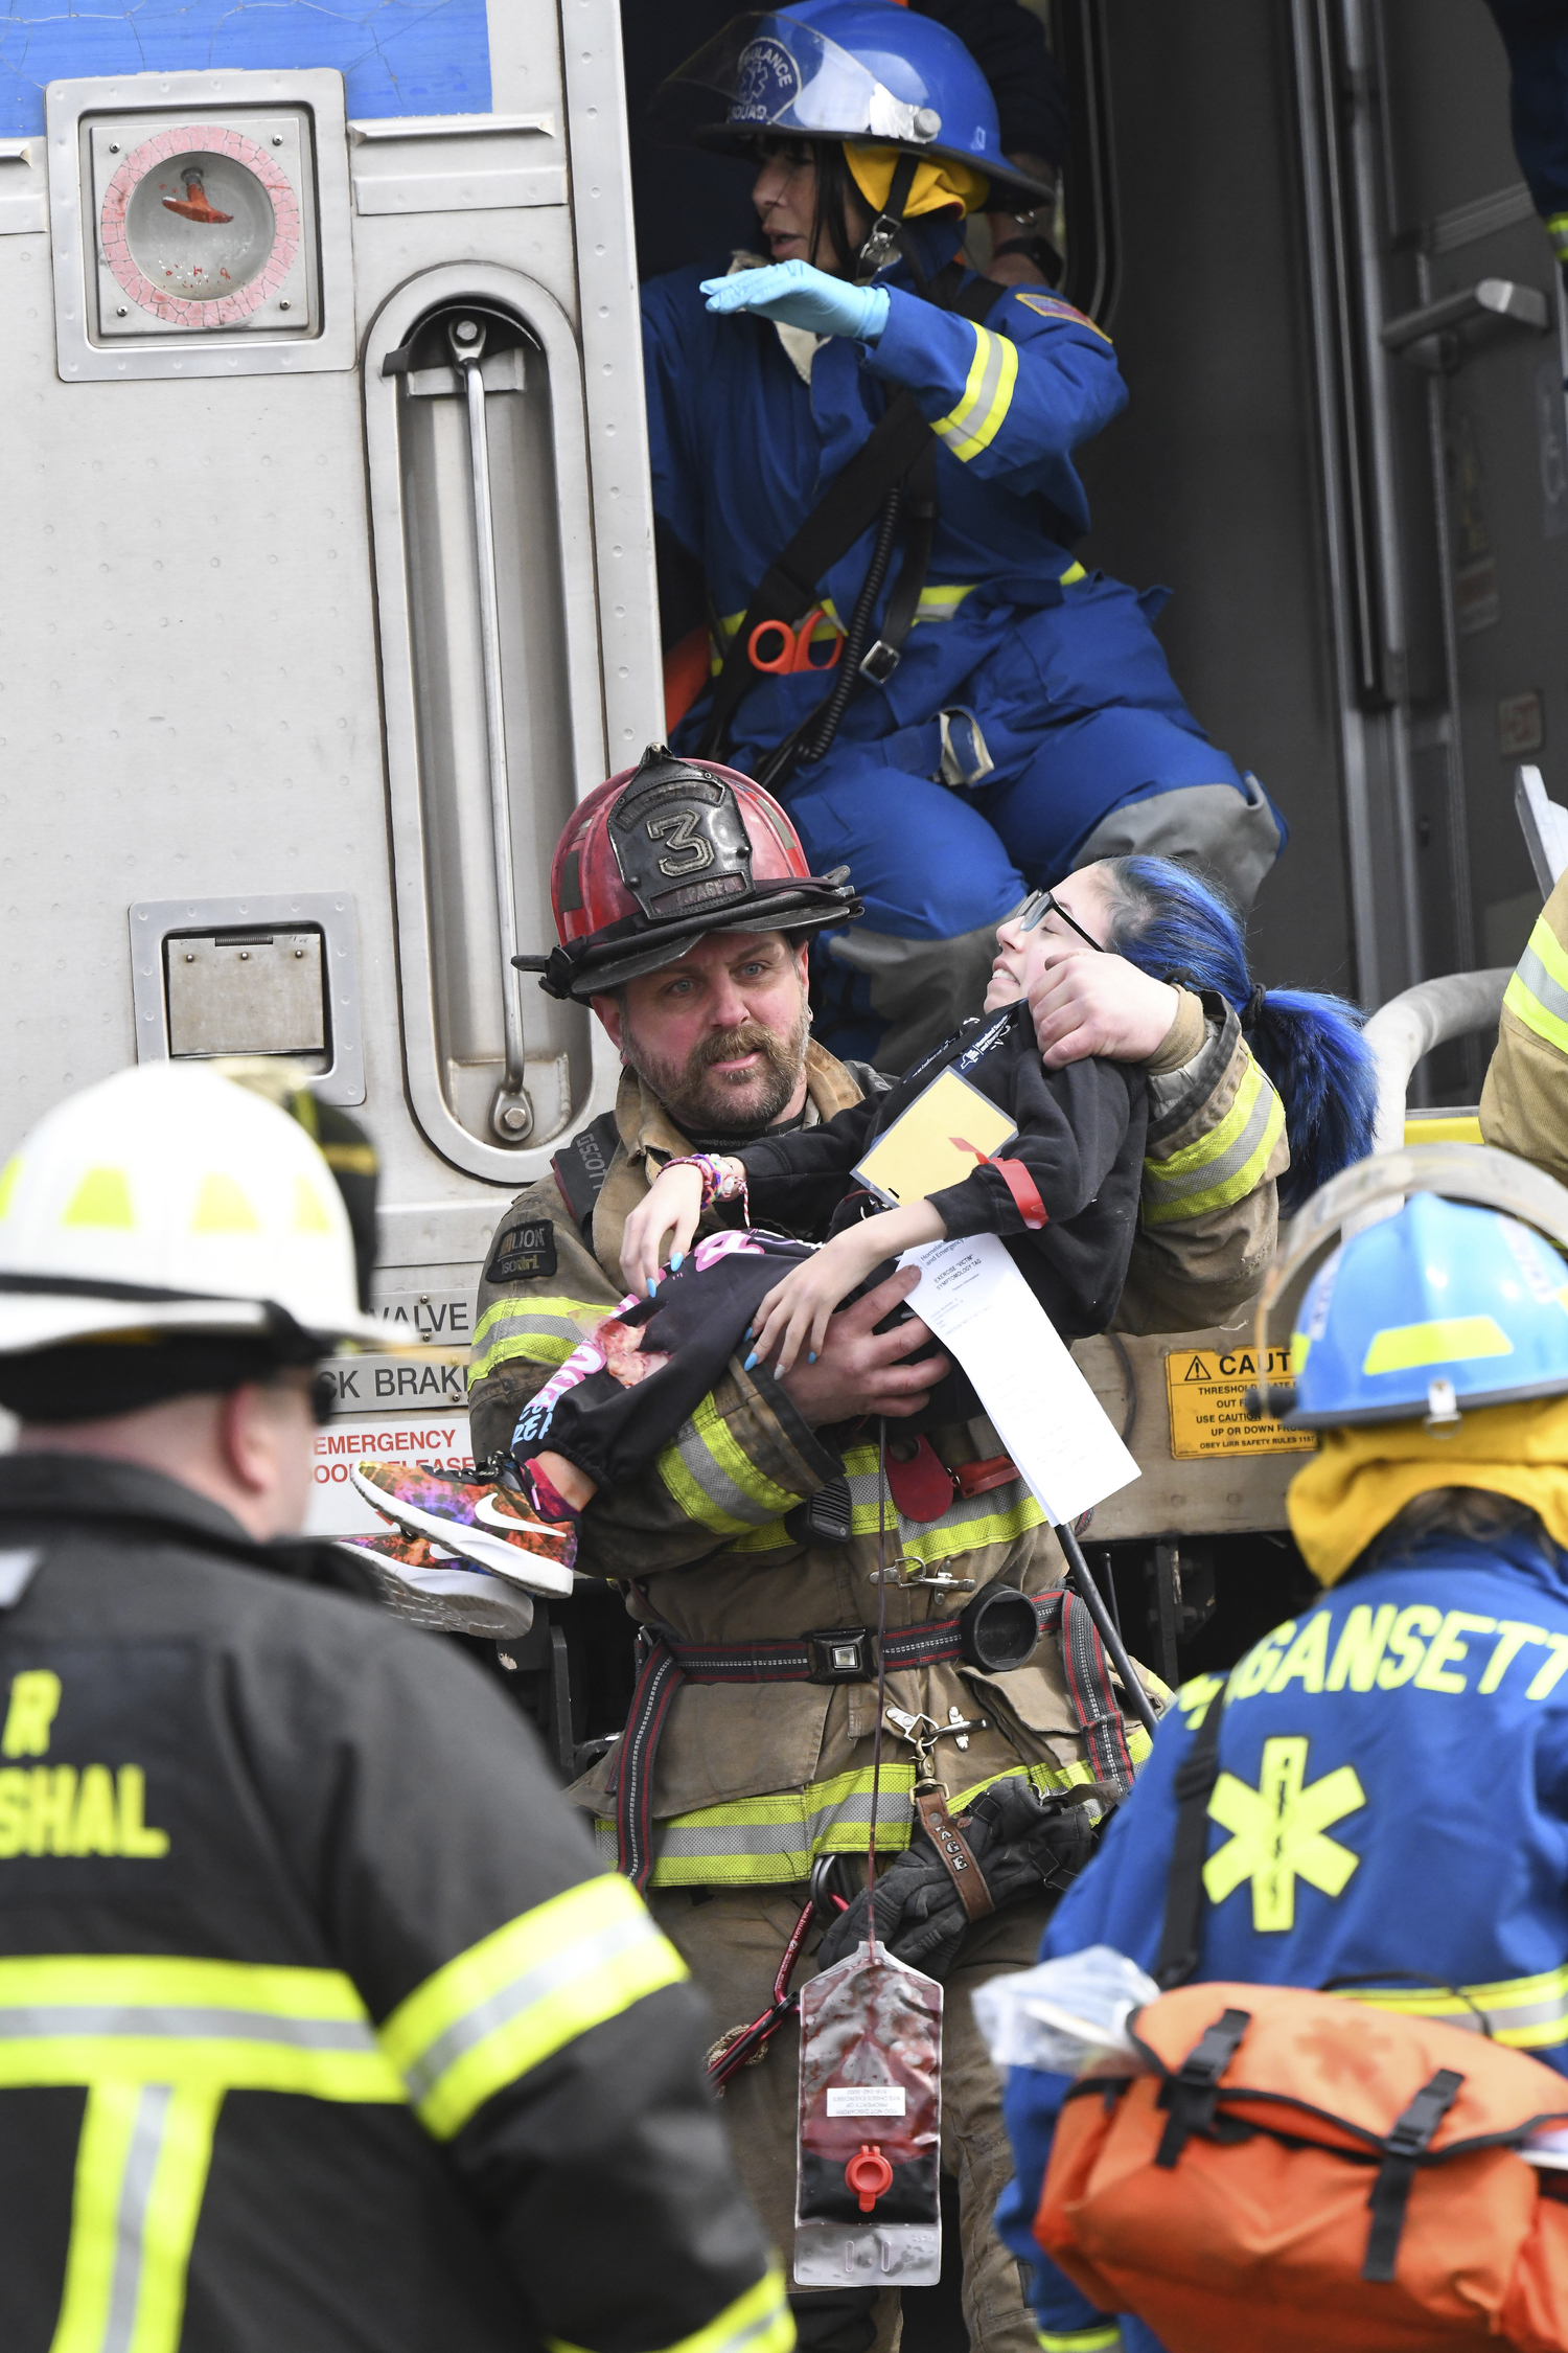
<svg viewBox="0 0 1568 2353">
<path fill-rule="evenodd" d="M 195 1064 L 73 1094 L 0 1169 L 0 1355 L 146 1329 L 386 1348 L 320 1148 Z"/>
</svg>

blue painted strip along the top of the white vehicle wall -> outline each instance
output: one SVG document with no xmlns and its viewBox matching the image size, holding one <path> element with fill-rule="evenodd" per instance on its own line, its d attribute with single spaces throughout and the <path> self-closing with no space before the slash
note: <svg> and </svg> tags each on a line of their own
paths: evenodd
<svg viewBox="0 0 1568 2353">
<path fill-rule="evenodd" d="M 47 82 L 336 66 L 350 115 L 489 113 L 484 0 L 5 0 L 0 136 L 45 127 Z"/>
</svg>

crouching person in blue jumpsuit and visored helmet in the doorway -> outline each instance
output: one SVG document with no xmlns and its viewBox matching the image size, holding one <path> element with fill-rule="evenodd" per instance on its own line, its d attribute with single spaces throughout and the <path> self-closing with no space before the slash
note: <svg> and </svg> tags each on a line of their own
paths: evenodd
<svg viewBox="0 0 1568 2353">
<path fill-rule="evenodd" d="M 983 325 L 922 299 L 992 186 L 1037 193 L 1001 160 L 961 42 L 891 0 L 804 0 L 738 19 L 677 80 L 726 96 L 708 136 L 757 160 L 771 256 L 644 289 L 654 504 L 703 565 L 717 642 L 900 388 L 938 442 L 917 626 L 896 668 L 858 682 L 827 755 L 773 786 L 813 868 L 846 864 L 865 899 L 818 960 L 818 1035 L 903 1068 L 971 1009 L 1030 887 L 1164 852 L 1248 906 L 1284 826 L 1182 704 L 1150 626 L 1159 593 L 1072 558 L 1088 527 L 1072 449 L 1126 402 L 1105 334 L 1034 287 L 997 292 Z M 872 539 L 820 581 L 813 659 L 832 656 Z M 886 607 L 884 591 L 875 626 Z M 773 781 L 766 755 L 830 687 L 757 671 L 708 751 Z M 705 746 L 708 708 L 677 748 Z"/>
</svg>

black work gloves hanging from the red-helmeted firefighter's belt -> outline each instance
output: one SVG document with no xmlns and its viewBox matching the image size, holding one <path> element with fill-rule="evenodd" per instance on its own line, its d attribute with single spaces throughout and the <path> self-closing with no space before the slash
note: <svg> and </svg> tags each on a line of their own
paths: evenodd
<svg viewBox="0 0 1568 2353">
<path fill-rule="evenodd" d="M 1060 1894 L 1093 1854 L 1093 1824 L 1081 1805 L 1046 1805 L 1023 1774 L 994 1781 L 959 1817 L 964 1842 L 980 1866 L 994 1911 L 1041 1894 Z M 945 1977 L 969 1927 L 961 1897 L 940 1854 L 917 1831 L 912 1845 L 877 1880 L 877 1941 L 926 1977 Z M 865 1944 L 865 1892 L 839 1913 L 818 1948 L 827 1969 Z"/>
</svg>

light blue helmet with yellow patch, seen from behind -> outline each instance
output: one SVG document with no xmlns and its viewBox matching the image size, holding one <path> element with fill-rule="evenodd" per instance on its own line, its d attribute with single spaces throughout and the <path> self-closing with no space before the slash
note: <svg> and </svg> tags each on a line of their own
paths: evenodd
<svg viewBox="0 0 1568 2353">
<path fill-rule="evenodd" d="M 1500 1209 L 1413 1193 L 1319 1271 L 1291 1369 L 1286 1421 L 1309 1431 L 1415 1414 L 1441 1431 L 1472 1407 L 1559 1395 L 1568 1261 Z"/>
</svg>

